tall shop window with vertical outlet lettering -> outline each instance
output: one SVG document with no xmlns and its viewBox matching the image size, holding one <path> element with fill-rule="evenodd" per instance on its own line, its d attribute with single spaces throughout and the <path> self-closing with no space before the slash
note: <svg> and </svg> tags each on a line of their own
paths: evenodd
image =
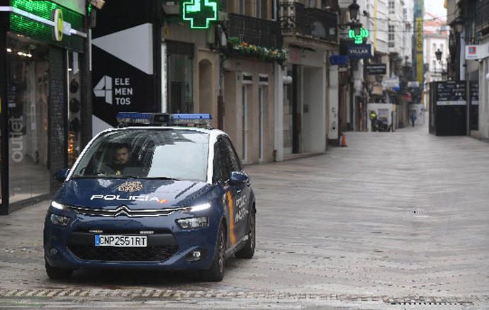
<svg viewBox="0 0 489 310">
<path fill-rule="evenodd" d="M 19 202 L 49 193 L 48 45 L 9 35 L 7 56 L 9 195 Z"/>
</svg>

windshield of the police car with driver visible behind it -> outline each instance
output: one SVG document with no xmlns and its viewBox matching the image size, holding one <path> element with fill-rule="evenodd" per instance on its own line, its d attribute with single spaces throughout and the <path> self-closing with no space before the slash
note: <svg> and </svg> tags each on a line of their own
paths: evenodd
<svg viewBox="0 0 489 310">
<path fill-rule="evenodd" d="M 128 129 L 95 140 L 72 178 L 157 178 L 206 182 L 209 136 L 197 130 Z"/>
</svg>

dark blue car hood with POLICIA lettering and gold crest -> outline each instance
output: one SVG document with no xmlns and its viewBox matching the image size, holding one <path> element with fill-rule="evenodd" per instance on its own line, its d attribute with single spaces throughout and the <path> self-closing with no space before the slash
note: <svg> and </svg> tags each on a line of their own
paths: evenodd
<svg viewBox="0 0 489 310">
<path fill-rule="evenodd" d="M 75 207 L 113 209 L 167 209 L 192 205 L 211 185 L 188 180 L 72 179 L 64 183 L 55 200 Z"/>
</svg>

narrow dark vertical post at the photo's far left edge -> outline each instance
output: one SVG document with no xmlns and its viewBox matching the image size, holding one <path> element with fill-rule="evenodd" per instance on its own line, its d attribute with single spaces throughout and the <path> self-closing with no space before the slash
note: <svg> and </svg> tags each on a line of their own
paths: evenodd
<svg viewBox="0 0 489 310">
<path fill-rule="evenodd" d="M 0 0 L 0 6 L 8 1 Z M 9 102 L 7 98 L 7 30 L 9 13 L 0 13 L 0 171 L 1 204 L 0 215 L 9 214 Z"/>
</svg>

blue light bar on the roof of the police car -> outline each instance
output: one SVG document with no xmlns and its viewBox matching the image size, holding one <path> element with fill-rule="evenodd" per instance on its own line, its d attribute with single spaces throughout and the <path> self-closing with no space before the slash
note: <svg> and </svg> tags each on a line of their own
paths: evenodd
<svg viewBox="0 0 489 310">
<path fill-rule="evenodd" d="M 117 121 L 124 125 L 208 125 L 210 114 L 166 114 L 120 112 Z"/>
</svg>

